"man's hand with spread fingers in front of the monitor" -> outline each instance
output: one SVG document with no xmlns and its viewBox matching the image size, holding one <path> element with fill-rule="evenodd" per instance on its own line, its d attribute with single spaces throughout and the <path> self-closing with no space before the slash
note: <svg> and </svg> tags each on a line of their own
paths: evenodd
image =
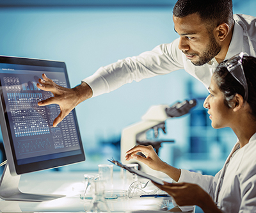
<svg viewBox="0 0 256 213">
<path fill-rule="evenodd" d="M 92 97 L 92 89 L 86 83 L 81 83 L 79 86 L 72 89 L 64 88 L 54 83 L 51 79 L 46 77 L 45 74 L 42 75 L 42 79 L 38 80 L 36 86 L 40 90 L 51 91 L 54 95 L 54 97 L 38 102 L 38 106 L 50 104 L 58 104 L 60 106 L 60 114 L 54 119 L 52 123 L 53 127 L 56 127 L 74 107 Z"/>
</svg>

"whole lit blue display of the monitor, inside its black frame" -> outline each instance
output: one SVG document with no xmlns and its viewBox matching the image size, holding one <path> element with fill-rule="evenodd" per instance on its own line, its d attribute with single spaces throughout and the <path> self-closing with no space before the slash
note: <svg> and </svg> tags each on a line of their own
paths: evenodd
<svg viewBox="0 0 256 213">
<path fill-rule="evenodd" d="M 52 93 L 36 87 L 43 73 L 56 84 L 67 87 L 65 74 L 59 67 L 10 64 L 1 64 L 0 67 L 8 128 L 18 165 L 81 153 L 74 114 L 68 114 L 54 128 L 52 122 L 60 113 L 60 107 L 37 104 L 52 97 Z"/>
</svg>

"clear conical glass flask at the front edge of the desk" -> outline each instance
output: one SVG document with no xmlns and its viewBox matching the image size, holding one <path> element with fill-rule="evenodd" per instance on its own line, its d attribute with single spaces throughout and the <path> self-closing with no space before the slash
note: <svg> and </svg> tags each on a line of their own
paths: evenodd
<svg viewBox="0 0 256 213">
<path fill-rule="evenodd" d="M 110 213 L 108 204 L 105 200 L 105 184 L 104 180 L 95 180 L 92 183 L 94 187 L 93 199 L 86 212 L 108 212 Z"/>
</svg>

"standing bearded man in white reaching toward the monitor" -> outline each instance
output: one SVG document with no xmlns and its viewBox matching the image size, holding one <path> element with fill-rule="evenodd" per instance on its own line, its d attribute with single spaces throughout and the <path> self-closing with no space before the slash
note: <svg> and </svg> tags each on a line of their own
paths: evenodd
<svg viewBox="0 0 256 213">
<path fill-rule="evenodd" d="M 208 87 L 214 69 L 224 59 L 241 51 L 256 56 L 256 18 L 233 16 L 232 0 L 178 0 L 173 8 L 173 22 L 180 38 L 101 67 L 75 88 L 62 88 L 42 75 L 38 88 L 51 91 L 54 97 L 38 105 L 59 104 L 61 109 L 53 126 L 77 104 L 126 83 L 184 69 Z"/>
</svg>

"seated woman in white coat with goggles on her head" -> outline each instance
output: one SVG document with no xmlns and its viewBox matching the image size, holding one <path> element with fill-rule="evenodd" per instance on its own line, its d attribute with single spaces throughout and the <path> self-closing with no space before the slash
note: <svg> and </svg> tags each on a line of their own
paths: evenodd
<svg viewBox="0 0 256 213">
<path fill-rule="evenodd" d="M 256 212 L 256 58 L 241 52 L 220 63 L 209 91 L 204 107 L 212 127 L 230 127 L 238 138 L 215 177 L 174 168 L 161 161 L 152 146 L 134 146 L 126 159 L 137 159 L 175 180 L 177 184 L 155 185 L 180 206 L 197 205 L 204 212 Z"/>
</svg>

